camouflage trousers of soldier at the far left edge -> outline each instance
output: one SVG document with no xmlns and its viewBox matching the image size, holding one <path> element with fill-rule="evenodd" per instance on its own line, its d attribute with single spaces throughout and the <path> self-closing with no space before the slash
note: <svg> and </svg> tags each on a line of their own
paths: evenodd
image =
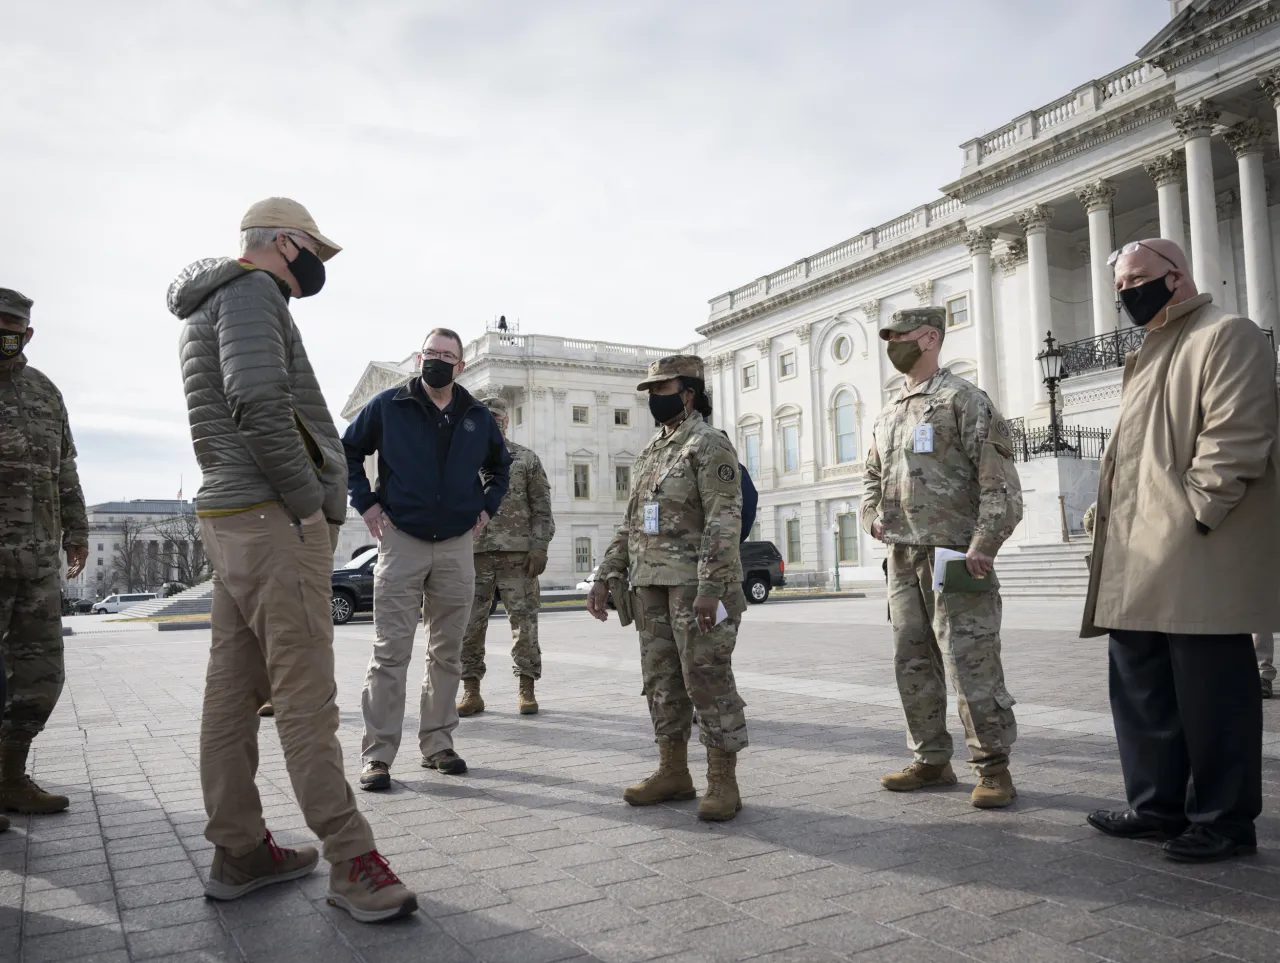
<svg viewBox="0 0 1280 963">
<path fill-rule="evenodd" d="M 56 571 L 37 579 L 0 576 L 0 653 L 9 693 L 0 744 L 26 749 L 63 692 L 63 598 Z"/>
</svg>

